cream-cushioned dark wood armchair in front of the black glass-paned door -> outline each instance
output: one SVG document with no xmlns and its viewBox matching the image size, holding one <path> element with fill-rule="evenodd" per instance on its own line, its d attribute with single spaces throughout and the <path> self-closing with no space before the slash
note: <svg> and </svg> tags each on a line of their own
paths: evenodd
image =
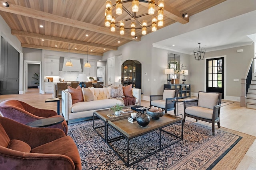
<svg viewBox="0 0 256 170">
<path fill-rule="evenodd" d="M 212 123 L 212 135 L 215 135 L 215 123 L 220 128 L 220 106 L 222 93 L 201 92 L 198 93 L 198 100 L 184 101 L 184 123 L 186 117 L 192 117 L 196 121 L 202 120 Z M 186 107 L 189 102 L 197 101 L 197 106 Z"/>
</svg>

